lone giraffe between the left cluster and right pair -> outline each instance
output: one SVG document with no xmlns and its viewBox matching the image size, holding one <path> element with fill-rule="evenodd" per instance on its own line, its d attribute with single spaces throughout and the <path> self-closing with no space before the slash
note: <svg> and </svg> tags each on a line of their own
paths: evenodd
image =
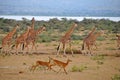
<svg viewBox="0 0 120 80">
<path fill-rule="evenodd" d="M 60 51 L 60 47 L 61 47 L 61 44 L 63 44 L 63 50 L 64 50 L 64 54 L 63 56 L 66 57 L 66 43 L 69 43 L 69 46 L 70 46 L 70 50 L 71 50 L 71 53 L 72 53 L 72 56 L 73 56 L 73 51 L 72 51 L 72 48 L 71 48 L 71 34 L 73 33 L 74 29 L 77 27 L 77 24 L 74 23 L 74 25 L 65 33 L 65 35 L 60 39 L 59 41 L 59 45 L 57 47 L 57 56 L 59 55 L 59 51 Z"/>
</svg>

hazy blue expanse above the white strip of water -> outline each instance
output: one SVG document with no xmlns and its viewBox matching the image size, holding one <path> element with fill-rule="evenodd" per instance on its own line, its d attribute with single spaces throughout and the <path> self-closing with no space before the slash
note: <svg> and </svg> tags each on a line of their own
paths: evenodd
<svg viewBox="0 0 120 80">
<path fill-rule="evenodd" d="M 120 0 L 0 0 L 0 14 L 79 14 L 85 10 L 120 11 Z"/>
</svg>

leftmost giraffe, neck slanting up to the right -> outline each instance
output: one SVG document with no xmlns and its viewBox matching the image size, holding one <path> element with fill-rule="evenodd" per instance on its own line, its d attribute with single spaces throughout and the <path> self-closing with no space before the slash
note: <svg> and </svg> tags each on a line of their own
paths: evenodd
<svg viewBox="0 0 120 80">
<path fill-rule="evenodd" d="M 12 42 L 12 37 L 16 33 L 16 30 L 18 29 L 18 27 L 19 25 L 17 24 L 16 27 L 2 39 L 3 51 L 5 50 L 5 46 L 8 46 L 8 48 L 10 47 L 11 42 Z"/>
</svg>

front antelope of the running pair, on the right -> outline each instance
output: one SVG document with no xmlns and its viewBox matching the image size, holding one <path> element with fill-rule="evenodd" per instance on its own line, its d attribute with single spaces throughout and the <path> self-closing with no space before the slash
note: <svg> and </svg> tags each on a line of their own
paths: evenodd
<svg viewBox="0 0 120 80">
<path fill-rule="evenodd" d="M 62 61 L 59 61 L 59 60 L 56 60 L 56 59 L 53 59 L 53 58 L 50 58 L 51 60 L 52 60 L 52 64 L 50 65 L 51 67 L 52 66 L 58 66 L 58 67 L 60 67 L 60 69 L 59 69 L 59 71 L 58 72 L 60 72 L 61 71 L 61 69 L 63 69 L 64 70 L 64 72 L 66 73 L 66 74 L 68 74 L 67 72 L 66 72 L 66 67 L 68 66 L 68 64 L 69 64 L 69 62 L 72 62 L 72 60 L 70 60 L 70 59 L 68 59 L 66 62 L 62 62 Z M 57 72 L 57 73 L 58 73 Z"/>
</svg>

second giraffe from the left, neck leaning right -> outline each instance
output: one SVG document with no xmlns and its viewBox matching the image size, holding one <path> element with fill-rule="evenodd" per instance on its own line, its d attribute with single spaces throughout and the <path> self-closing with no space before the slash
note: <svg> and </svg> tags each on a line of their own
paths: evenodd
<svg viewBox="0 0 120 80">
<path fill-rule="evenodd" d="M 24 32 L 23 34 L 21 34 L 17 39 L 16 39 L 16 42 L 15 42 L 15 46 L 16 46 L 16 53 L 18 53 L 18 46 L 19 45 L 22 45 L 22 44 L 25 44 L 25 40 L 27 39 L 28 37 L 28 34 L 29 34 L 29 30 L 31 29 L 30 26 L 27 27 L 27 30 L 26 32 Z"/>
</svg>

